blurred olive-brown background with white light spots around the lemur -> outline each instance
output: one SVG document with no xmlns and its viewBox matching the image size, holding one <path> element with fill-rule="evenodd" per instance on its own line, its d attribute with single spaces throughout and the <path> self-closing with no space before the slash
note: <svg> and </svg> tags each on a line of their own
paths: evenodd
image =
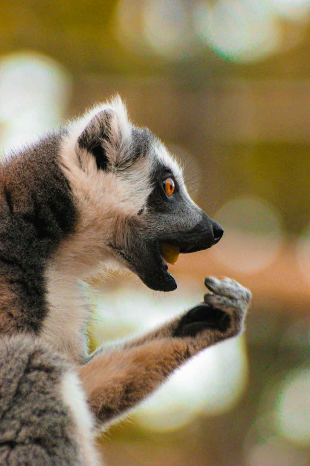
<svg viewBox="0 0 310 466">
<path fill-rule="evenodd" d="M 218 344 L 99 440 L 108 466 L 310 464 L 310 1 L 11 0 L 0 4 L 0 148 L 115 92 L 181 161 L 224 227 L 181 255 L 178 289 L 93 282 L 91 343 L 198 303 L 203 279 L 251 288 Z"/>
</svg>

